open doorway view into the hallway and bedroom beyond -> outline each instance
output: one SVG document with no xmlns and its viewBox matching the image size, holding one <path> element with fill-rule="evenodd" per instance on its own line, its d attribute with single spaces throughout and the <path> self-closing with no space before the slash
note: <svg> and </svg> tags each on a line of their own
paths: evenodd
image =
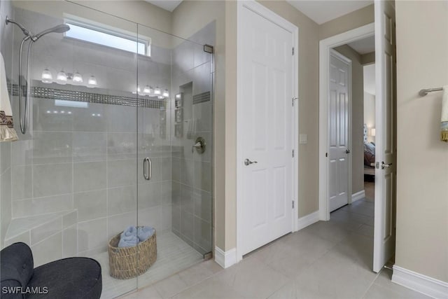
<svg viewBox="0 0 448 299">
<path fill-rule="evenodd" d="M 328 73 L 330 221 L 360 235 L 370 244 L 370 251 L 374 235 L 374 51 L 373 35 L 333 47 Z"/>
</svg>

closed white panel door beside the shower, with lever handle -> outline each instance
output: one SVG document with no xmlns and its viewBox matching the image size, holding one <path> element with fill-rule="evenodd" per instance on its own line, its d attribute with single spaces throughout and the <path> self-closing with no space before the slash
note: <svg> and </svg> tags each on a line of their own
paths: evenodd
<svg viewBox="0 0 448 299">
<path fill-rule="evenodd" d="M 241 14 L 238 225 L 244 255 L 292 230 L 294 66 L 291 32 L 246 7 Z"/>
</svg>

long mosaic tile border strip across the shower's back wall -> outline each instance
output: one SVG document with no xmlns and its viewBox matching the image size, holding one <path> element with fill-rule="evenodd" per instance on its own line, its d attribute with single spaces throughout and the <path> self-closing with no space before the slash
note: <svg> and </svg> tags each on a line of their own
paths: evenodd
<svg viewBox="0 0 448 299">
<path fill-rule="evenodd" d="M 10 86 L 10 85 L 9 85 Z M 18 85 L 13 85 L 12 95 L 19 95 Z M 8 88 L 10 91 L 10 88 Z M 120 106 L 138 106 L 143 108 L 163 109 L 167 106 L 166 99 L 148 99 L 148 97 L 122 97 L 118 95 L 102 95 L 94 92 L 78 90 L 62 90 L 55 88 L 31 87 L 31 97 L 36 99 L 62 99 L 74 102 L 88 102 L 93 104 L 111 104 Z"/>
</svg>

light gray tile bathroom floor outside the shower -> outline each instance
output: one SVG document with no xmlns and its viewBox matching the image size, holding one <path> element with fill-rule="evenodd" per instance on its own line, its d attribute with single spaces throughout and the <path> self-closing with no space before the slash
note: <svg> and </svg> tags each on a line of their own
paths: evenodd
<svg viewBox="0 0 448 299">
<path fill-rule="evenodd" d="M 428 298 L 372 272 L 372 236 L 373 200 L 358 200 L 228 269 L 209 260 L 124 298 Z"/>
</svg>

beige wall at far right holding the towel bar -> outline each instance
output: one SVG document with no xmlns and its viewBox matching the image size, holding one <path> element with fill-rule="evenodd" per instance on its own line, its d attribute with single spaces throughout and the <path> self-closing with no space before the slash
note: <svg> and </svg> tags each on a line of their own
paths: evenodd
<svg viewBox="0 0 448 299">
<path fill-rule="evenodd" d="M 395 1 L 397 239 L 395 265 L 448 282 L 448 144 L 440 141 L 448 84 L 448 2 Z"/>
</svg>

